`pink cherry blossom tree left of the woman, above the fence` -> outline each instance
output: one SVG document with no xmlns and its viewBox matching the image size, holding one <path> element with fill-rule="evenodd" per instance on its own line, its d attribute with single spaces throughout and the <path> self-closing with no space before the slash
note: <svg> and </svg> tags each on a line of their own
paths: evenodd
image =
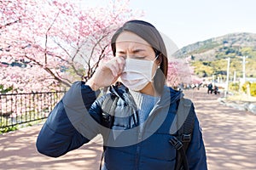
<svg viewBox="0 0 256 170">
<path fill-rule="evenodd" d="M 113 31 L 143 15 L 129 0 L 91 8 L 83 1 L 0 0 L 0 84 L 49 91 L 88 80 L 111 57 Z"/>
</svg>

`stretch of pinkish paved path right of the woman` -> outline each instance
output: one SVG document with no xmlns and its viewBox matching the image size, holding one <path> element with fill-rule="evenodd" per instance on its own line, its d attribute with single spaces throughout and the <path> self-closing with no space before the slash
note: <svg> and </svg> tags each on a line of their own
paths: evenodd
<svg viewBox="0 0 256 170">
<path fill-rule="evenodd" d="M 195 103 L 210 170 L 256 169 L 256 115 L 218 103 L 206 89 L 185 92 Z"/>
</svg>

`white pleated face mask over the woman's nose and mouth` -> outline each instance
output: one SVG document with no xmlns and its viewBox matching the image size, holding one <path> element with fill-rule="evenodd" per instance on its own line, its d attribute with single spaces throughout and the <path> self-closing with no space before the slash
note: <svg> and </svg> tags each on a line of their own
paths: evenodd
<svg viewBox="0 0 256 170">
<path fill-rule="evenodd" d="M 154 60 L 125 59 L 125 68 L 119 77 L 120 82 L 134 91 L 143 89 L 148 82 L 153 81 Z"/>
</svg>

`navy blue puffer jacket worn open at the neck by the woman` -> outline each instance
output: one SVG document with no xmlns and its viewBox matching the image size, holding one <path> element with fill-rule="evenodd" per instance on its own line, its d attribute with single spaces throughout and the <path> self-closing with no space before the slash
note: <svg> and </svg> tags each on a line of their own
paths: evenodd
<svg viewBox="0 0 256 170">
<path fill-rule="evenodd" d="M 75 82 L 50 112 L 38 134 L 38 151 L 46 156 L 62 156 L 75 150 L 97 134 L 104 139 L 104 167 L 108 170 L 172 170 L 176 150 L 170 144 L 170 127 L 181 93 L 165 87 L 148 119 L 139 122 L 136 106 L 129 93 L 119 91 L 111 129 L 104 125 L 102 114 L 107 95 L 96 98 L 96 92 L 84 82 Z M 190 111 L 195 111 L 192 105 Z M 189 169 L 206 170 L 207 157 L 201 127 L 195 116 L 192 140 L 187 150 Z"/>
</svg>

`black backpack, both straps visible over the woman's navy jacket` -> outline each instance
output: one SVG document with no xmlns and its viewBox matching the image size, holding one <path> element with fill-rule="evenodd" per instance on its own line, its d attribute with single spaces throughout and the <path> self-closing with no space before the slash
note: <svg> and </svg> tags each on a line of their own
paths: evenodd
<svg viewBox="0 0 256 170">
<path fill-rule="evenodd" d="M 111 90 L 114 88 L 115 90 Z M 113 126 L 114 111 L 117 106 L 117 101 L 120 97 L 116 86 L 110 87 L 110 91 L 114 92 L 112 94 L 106 95 L 102 103 L 102 125 L 108 128 Z M 189 142 L 192 139 L 192 133 L 194 129 L 195 122 L 195 111 L 190 111 L 192 101 L 190 99 L 181 98 L 178 101 L 177 116 L 175 119 L 175 125 L 177 129 L 177 134 L 173 135 L 170 139 L 170 143 L 177 150 L 176 154 L 176 164 L 175 170 L 189 170 L 189 163 L 187 161 L 186 150 L 189 147 Z M 180 126 L 182 125 L 182 126 Z M 105 146 L 103 146 L 102 159 L 105 153 Z M 102 160 L 100 169 L 102 169 Z"/>
</svg>

